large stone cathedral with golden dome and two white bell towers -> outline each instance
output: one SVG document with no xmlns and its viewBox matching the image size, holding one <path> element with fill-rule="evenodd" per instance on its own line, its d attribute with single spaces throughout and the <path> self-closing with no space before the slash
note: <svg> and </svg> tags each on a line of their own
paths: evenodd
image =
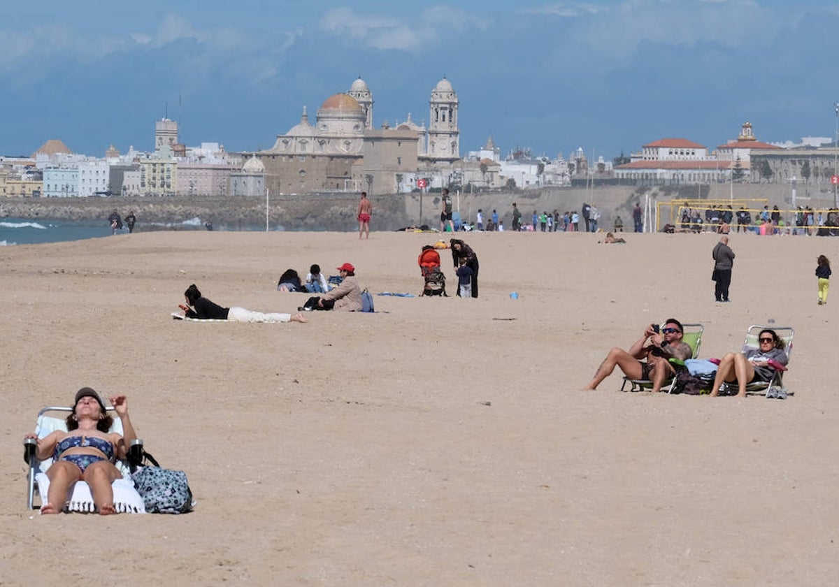
<svg viewBox="0 0 839 587">
<path fill-rule="evenodd" d="M 304 107 L 300 122 L 255 153 L 271 193 L 362 191 L 393 194 L 416 179 L 446 183 L 460 159 L 458 98 L 444 77 L 431 91 L 429 127 L 410 119 L 394 127 L 373 123 L 373 92 L 361 78 L 326 98 L 314 124 Z M 438 179 L 434 181 L 433 179 Z"/>
</svg>

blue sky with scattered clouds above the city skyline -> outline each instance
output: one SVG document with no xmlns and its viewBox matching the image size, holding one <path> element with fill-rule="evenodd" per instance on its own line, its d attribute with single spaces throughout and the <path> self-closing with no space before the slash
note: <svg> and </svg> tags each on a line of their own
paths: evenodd
<svg viewBox="0 0 839 587">
<path fill-rule="evenodd" d="M 826 0 L 31 0 L 0 22 L 0 154 L 50 138 L 101 157 L 270 148 L 359 75 L 373 124 L 428 122 L 444 76 L 461 156 L 591 158 L 659 138 L 708 148 L 752 122 L 765 142 L 832 138 L 839 3 Z"/>
</svg>

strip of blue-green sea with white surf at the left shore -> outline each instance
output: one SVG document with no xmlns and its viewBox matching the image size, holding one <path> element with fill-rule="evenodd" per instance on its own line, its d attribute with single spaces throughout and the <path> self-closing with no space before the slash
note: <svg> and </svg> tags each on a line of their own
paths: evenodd
<svg viewBox="0 0 839 587">
<path fill-rule="evenodd" d="M 139 231 L 203 231 L 206 230 L 200 218 L 181 222 L 144 222 L 134 227 Z M 225 225 L 213 226 L 213 230 L 233 230 Z M 264 226 L 240 226 L 240 231 L 264 231 Z M 284 230 L 282 226 L 272 227 L 274 231 Z M 128 234 L 123 227 L 117 234 Z M 86 238 L 111 236 L 111 226 L 103 221 L 61 221 L 25 218 L 0 218 L 0 247 L 8 245 L 32 245 L 43 242 L 81 241 Z"/>
</svg>

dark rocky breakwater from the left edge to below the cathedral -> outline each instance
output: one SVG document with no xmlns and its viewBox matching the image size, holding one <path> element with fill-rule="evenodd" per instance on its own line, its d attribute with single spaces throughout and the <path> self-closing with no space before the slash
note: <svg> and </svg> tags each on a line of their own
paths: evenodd
<svg viewBox="0 0 839 587">
<path fill-rule="evenodd" d="M 358 224 L 357 194 L 277 195 L 268 199 L 268 226 L 287 231 L 354 231 Z M 405 199 L 399 195 L 373 196 L 373 230 L 395 230 L 409 221 Z M 137 230 L 155 226 L 201 226 L 245 230 L 265 226 L 265 198 L 232 197 L 121 197 L 110 198 L 4 198 L 0 218 L 31 220 L 106 221 L 113 210 L 137 216 Z"/>
</svg>

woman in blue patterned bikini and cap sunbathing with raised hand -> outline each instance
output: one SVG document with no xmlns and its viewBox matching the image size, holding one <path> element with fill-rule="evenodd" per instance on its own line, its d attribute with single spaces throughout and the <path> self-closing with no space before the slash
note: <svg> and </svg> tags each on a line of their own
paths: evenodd
<svg viewBox="0 0 839 587">
<path fill-rule="evenodd" d="M 38 439 L 34 433 L 26 435 L 28 439 L 38 440 L 40 460 L 53 458 L 53 464 L 47 470 L 50 491 L 41 506 L 42 514 L 60 512 L 67 502 L 70 485 L 76 481 L 86 481 L 90 486 L 99 513 L 116 513 L 111 483 L 122 478 L 122 473 L 113 462 L 128 455 L 128 447 L 137 435 L 128 418 L 126 397 L 113 396 L 109 400 L 122 421 L 122 436 L 108 432 L 113 418 L 107 415 L 102 397 L 91 387 L 82 387 L 76 392 L 75 408 L 67 416 L 69 432 L 56 430 L 43 439 Z"/>
</svg>

